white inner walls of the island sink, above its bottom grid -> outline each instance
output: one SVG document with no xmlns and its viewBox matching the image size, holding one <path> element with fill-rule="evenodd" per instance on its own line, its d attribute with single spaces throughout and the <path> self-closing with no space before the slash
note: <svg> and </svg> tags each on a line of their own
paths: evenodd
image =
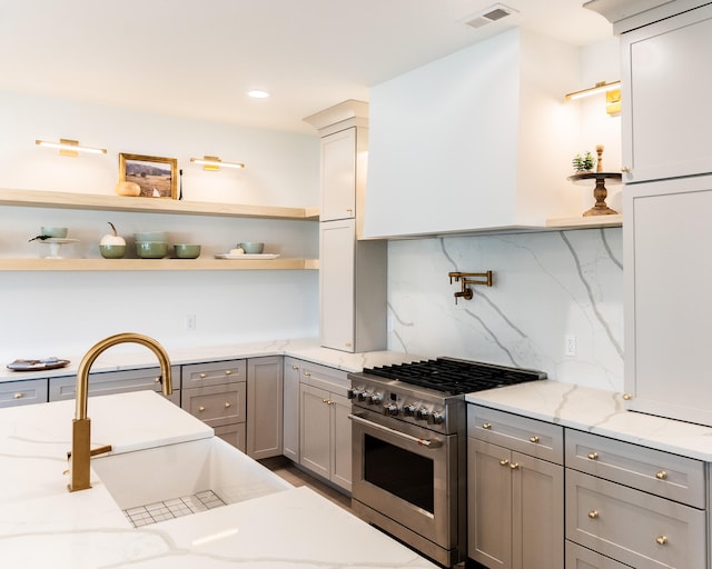
<svg viewBox="0 0 712 569">
<path fill-rule="evenodd" d="M 91 466 L 122 509 L 211 490 L 234 503 L 293 488 L 218 437 L 121 455 L 97 457 Z"/>
</svg>

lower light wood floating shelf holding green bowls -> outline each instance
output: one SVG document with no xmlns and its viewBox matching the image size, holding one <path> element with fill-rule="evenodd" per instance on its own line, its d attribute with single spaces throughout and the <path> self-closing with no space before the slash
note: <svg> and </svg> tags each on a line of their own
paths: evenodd
<svg viewBox="0 0 712 569">
<path fill-rule="evenodd" d="M 276 271 L 318 268 L 318 259 L 0 259 L 0 271 Z"/>
</svg>

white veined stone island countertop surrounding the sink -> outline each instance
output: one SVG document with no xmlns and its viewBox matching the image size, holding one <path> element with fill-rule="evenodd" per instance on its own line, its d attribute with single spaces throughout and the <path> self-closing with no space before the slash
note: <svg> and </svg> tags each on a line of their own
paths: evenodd
<svg viewBox="0 0 712 569">
<path fill-rule="evenodd" d="M 211 436 L 152 391 L 95 397 L 89 416 L 92 443 L 111 441 L 115 453 Z M 72 417 L 72 401 L 0 409 L 3 567 L 435 569 L 312 490 L 286 482 L 275 493 L 134 528 L 93 470 L 91 489 L 67 490 Z"/>
</svg>

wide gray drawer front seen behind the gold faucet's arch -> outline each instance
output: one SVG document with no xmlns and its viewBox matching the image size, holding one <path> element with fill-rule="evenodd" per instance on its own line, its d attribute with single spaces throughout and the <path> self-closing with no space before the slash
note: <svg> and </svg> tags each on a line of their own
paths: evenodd
<svg viewBox="0 0 712 569">
<path fill-rule="evenodd" d="M 174 386 L 174 395 L 169 399 L 174 402 L 180 400 L 180 367 L 171 366 L 170 375 Z M 106 371 L 89 375 L 89 396 L 110 396 L 150 389 L 160 391 L 160 368 L 131 369 L 127 371 Z M 49 400 L 61 401 L 77 397 L 77 377 L 68 376 L 50 378 Z"/>
</svg>

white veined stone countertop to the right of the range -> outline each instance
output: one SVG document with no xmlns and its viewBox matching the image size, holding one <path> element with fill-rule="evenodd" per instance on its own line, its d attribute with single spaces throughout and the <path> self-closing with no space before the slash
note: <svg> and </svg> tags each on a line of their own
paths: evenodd
<svg viewBox="0 0 712 569">
<path fill-rule="evenodd" d="M 629 411 L 622 393 L 543 380 L 469 393 L 465 400 L 712 462 L 712 427 Z"/>
</svg>

